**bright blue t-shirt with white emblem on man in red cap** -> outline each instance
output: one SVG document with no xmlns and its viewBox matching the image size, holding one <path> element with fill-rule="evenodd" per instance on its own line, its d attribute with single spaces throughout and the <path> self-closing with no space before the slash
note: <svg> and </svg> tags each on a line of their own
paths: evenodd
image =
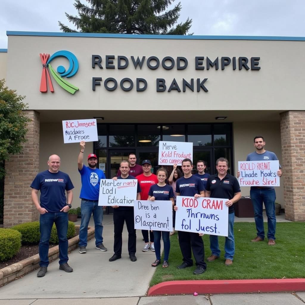
<svg viewBox="0 0 305 305">
<path fill-rule="evenodd" d="M 79 197 L 87 200 L 99 200 L 100 182 L 101 179 L 106 179 L 104 172 L 85 165 L 78 171 L 81 174 L 81 194 Z"/>
</svg>

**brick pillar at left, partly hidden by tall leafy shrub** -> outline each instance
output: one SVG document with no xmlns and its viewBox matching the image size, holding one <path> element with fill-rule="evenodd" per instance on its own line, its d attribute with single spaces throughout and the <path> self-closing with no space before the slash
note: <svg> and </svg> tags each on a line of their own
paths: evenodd
<svg viewBox="0 0 305 305">
<path fill-rule="evenodd" d="M 39 170 L 39 113 L 26 110 L 24 114 L 32 120 L 27 125 L 27 142 L 19 155 L 12 155 L 5 161 L 4 228 L 37 221 L 39 216 L 30 188 Z"/>
</svg>

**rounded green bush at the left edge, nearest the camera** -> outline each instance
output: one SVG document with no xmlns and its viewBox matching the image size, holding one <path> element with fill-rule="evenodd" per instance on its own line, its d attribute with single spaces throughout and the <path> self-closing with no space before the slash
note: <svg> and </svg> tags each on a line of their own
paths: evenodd
<svg viewBox="0 0 305 305">
<path fill-rule="evenodd" d="M 0 261 L 8 260 L 18 253 L 21 247 L 21 233 L 0 228 Z"/>
</svg>

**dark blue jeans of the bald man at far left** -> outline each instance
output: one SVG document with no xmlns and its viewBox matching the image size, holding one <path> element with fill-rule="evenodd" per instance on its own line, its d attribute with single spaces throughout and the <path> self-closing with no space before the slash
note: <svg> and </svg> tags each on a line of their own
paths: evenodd
<svg viewBox="0 0 305 305">
<path fill-rule="evenodd" d="M 39 242 L 39 257 L 40 267 L 48 267 L 49 264 L 49 240 L 53 223 L 56 225 L 57 236 L 59 240 L 59 265 L 65 264 L 68 261 L 68 213 L 45 213 L 40 215 L 40 242 Z"/>
</svg>

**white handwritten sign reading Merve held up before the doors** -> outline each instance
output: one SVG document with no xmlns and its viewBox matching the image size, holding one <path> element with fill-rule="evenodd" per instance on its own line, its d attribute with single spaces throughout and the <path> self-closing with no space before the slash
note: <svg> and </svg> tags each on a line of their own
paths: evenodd
<svg viewBox="0 0 305 305">
<path fill-rule="evenodd" d="M 159 142 L 159 165 L 181 165 L 182 160 L 185 158 L 193 161 L 192 142 Z"/>
</svg>

